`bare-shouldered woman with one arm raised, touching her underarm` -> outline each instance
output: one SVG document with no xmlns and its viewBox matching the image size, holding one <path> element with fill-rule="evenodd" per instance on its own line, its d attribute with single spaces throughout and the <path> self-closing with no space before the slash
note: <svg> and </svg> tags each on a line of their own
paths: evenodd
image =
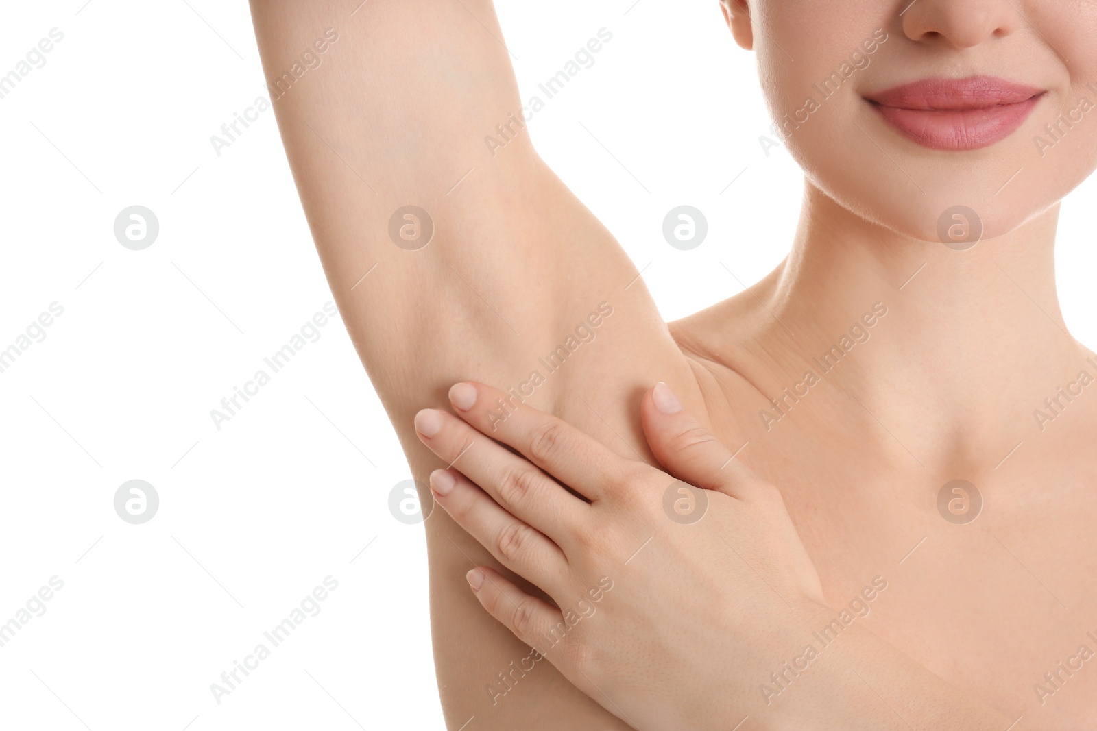
<svg viewBox="0 0 1097 731">
<path fill-rule="evenodd" d="M 668 325 L 533 150 L 491 3 L 357 4 L 252 14 L 269 80 L 341 28 L 275 108 L 443 509 L 450 728 L 1093 728 L 1097 361 L 1053 244 L 1097 5 L 723 0 L 803 212 Z"/>
</svg>

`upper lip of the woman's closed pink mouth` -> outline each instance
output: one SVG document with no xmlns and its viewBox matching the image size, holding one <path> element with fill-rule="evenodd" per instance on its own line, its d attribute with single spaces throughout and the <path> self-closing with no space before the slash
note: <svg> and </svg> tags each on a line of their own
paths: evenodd
<svg viewBox="0 0 1097 731">
<path fill-rule="evenodd" d="M 964 79 L 920 79 L 866 94 L 864 98 L 882 106 L 953 111 L 1019 104 L 1042 93 L 1044 90 L 1037 87 L 992 76 L 972 76 Z"/>
</svg>

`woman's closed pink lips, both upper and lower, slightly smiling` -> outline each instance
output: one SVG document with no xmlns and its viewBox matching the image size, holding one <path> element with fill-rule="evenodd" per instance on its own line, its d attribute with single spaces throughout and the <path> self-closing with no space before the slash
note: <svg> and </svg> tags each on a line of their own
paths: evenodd
<svg viewBox="0 0 1097 731">
<path fill-rule="evenodd" d="M 866 95 L 904 137 L 934 150 L 977 150 L 1020 127 L 1042 89 L 989 76 L 923 79 Z"/>
</svg>

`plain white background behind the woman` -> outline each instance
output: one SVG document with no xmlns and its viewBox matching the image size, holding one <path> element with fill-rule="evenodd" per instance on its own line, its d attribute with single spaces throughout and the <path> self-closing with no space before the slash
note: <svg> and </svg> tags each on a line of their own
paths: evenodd
<svg viewBox="0 0 1097 731">
<path fill-rule="evenodd" d="M 0 24 L 0 75 L 65 34 L 0 99 L 0 349 L 64 307 L 0 374 L 0 623 L 65 582 L 0 648 L 0 727 L 442 728 L 422 526 L 387 507 L 410 475 L 341 322 L 222 430 L 210 416 L 331 297 L 273 113 L 219 157 L 210 141 L 263 92 L 248 7 L 188 2 L 8 3 Z M 346 4 L 349 44 L 370 7 Z M 497 4 L 523 101 L 613 33 L 530 128 L 667 319 L 783 258 L 801 175 L 759 142 L 754 60 L 716 0 Z M 1058 250 L 1090 345 L 1093 196 L 1065 204 Z M 113 233 L 134 204 L 159 219 L 144 251 Z M 689 252 L 660 230 L 680 204 L 709 220 Z M 144 525 L 113 507 L 135 478 L 160 496 Z M 321 612 L 215 703 L 211 683 L 328 575 Z"/>
</svg>

